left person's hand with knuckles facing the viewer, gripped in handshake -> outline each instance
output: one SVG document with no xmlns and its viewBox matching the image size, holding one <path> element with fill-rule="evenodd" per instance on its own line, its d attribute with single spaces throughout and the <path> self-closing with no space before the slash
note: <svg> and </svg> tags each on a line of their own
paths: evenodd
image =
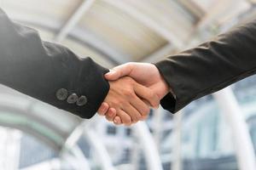
<svg viewBox="0 0 256 170">
<path fill-rule="evenodd" d="M 148 115 L 150 110 L 146 103 L 159 105 L 158 96 L 151 89 L 135 82 L 131 77 L 122 77 L 109 82 L 109 84 L 110 89 L 104 102 L 112 108 L 110 111 L 113 111 L 106 116 L 108 121 L 113 121 L 113 117 L 117 115 L 125 125 L 131 125 L 131 123 L 143 120 L 143 117 Z"/>
</svg>

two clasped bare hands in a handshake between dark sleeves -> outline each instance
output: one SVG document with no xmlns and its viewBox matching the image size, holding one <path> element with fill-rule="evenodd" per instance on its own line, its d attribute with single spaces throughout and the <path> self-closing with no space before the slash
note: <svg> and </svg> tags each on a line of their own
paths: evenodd
<svg viewBox="0 0 256 170">
<path fill-rule="evenodd" d="M 130 126 L 145 120 L 150 107 L 158 108 L 160 99 L 171 90 L 153 64 L 119 65 L 105 78 L 110 89 L 98 114 L 116 125 Z"/>
</svg>

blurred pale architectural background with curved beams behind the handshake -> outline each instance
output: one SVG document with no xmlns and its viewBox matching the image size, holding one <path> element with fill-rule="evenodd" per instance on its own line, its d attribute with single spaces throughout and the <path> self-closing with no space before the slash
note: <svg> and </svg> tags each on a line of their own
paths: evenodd
<svg viewBox="0 0 256 170">
<path fill-rule="evenodd" d="M 112 68 L 156 62 L 256 17 L 254 0 L 0 0 L 16 22 Z M 255 35 L 252 35 L 255 36 Z M 209 77 L 211 78 L 211 77 Z M 116 127 L 0 87 L 0 169 L 250 170 L 256 77 Z M 252 165 L 252 164 L 251 164 Z M 254 168 L 256 169 L 256 168 Z"/>
</svg>

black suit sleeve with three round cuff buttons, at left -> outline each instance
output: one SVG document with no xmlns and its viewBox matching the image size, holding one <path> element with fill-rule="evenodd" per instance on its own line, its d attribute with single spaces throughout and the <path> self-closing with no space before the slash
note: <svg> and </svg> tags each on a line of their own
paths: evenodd
<svg viewBox="0 0 256 170">
<path fill-rule="evenodd" d="M 1 9 L 0 59 L 0 83 L 82 118 L 94 116 L 108 94 L 103 77 L 107 69 L 61 45 L 43 42 L 37 31 L 15 24 Z M 56 96 L 60 89 L 67 92 L 63 99 Z M 71 94 L 84 96 L 86 105 L 68 103 Z"/>
</svg>

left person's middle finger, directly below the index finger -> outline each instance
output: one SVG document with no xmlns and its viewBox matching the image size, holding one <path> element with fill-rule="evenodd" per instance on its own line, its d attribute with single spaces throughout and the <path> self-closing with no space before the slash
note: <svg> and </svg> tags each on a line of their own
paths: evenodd
<svg viewBox="0 0 256 170">
<path fill-rule="evenodd" d="M 142 99 L 139 99 L 137 96 L 135 96 L 133 99 L 131 99 L 130 102 L 131 102 L 131 105 L 134 108 L 136 108 L 137 111 L 141 114 L 141 116 L 148 116 L 150 108 L 146 103 L 143 102 Z M 140 121 L 142 121 L 142 119 L 140 119 Z"/>
</svg>

